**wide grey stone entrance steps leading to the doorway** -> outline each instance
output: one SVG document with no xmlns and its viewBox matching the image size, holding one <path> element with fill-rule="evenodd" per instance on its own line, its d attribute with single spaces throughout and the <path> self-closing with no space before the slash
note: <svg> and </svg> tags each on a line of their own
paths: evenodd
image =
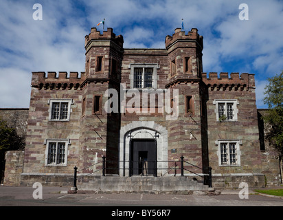
<svg viewBox="0 0 283 220">
<path fill-rule="evenodd" d="M 202 182 L 185 176 L 89 176 L 84 181 L 78 181 L 77 188 L 96 192 L 208 192 L 209 190 Z"/>
</svg>

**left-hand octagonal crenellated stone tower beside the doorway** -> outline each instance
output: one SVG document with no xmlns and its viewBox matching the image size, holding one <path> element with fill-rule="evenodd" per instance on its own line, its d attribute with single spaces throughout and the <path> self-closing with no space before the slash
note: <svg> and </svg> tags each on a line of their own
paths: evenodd
<svg viewBox="0 0 283 220">
<path fill-rule="evenodd" d="M 101 155 L 117 161 L 120 114 L 107 113 L 104 106 L 109 100 L 107 89 L 120 91 L 123 43 L 123 36 L 116 36 L 112 28 L 102 34 L 91 28 L 91 33 L 85 36 L 86 76 L 82 83 L 80 137 L 84 166 L 93 163 L 93 159 L 101 159 Z M 115 163 L 111 166 L 117 168 Z M 117 170 L 109 172 L 117 173 Z"/>
</svg>

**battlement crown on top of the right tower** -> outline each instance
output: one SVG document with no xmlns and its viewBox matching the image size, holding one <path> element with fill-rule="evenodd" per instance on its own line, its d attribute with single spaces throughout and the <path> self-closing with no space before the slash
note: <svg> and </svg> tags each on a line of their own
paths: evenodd
<svg viewBox="0 0 283 220">
<path fill-rule="evenodd" d="M 172 36 L 167 35 L 165 39 L 165 45 L 166 48 L 168 48 L 172 43 L 175 41 L 197 41 L 199 45 L 203 48 L 203 36 L 198 34 L 198 30 L 196 28 L 192 28 L 188 34 L 185 34 L 185 32 L 181 31 L 181 28 L 176 28 L 175 32 Z"/>
</svg>

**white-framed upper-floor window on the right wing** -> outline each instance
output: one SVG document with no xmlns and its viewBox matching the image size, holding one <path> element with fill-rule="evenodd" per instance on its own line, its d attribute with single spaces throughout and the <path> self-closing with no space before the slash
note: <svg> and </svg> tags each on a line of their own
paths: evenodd
<svg viewBox="0 0 283 220">
<path fill-rule="evenodd" d="M 216 99 L 216 120 L 225 122 L 235 122 L 238 120 L 238 100 L 236 99 Z"/>
</svg>

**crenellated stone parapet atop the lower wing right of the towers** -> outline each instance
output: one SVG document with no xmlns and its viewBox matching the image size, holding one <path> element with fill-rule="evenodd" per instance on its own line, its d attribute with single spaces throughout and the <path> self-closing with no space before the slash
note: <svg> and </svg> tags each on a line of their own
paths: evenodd
<svg viewBox="0 0 283 220">
<path fill-rule="evenodd" d="M 231 73 L 230 77 L 227 72 L 221 72 L 218 74 L 216 72 L 210 72 L 208 74 L 203 73 L 203 82 L 207 85 L 209 89 L 213 90 L 249 90 L 255 88 L 255 78 L 254 74 L 242 73 Z"/>
</svg>

